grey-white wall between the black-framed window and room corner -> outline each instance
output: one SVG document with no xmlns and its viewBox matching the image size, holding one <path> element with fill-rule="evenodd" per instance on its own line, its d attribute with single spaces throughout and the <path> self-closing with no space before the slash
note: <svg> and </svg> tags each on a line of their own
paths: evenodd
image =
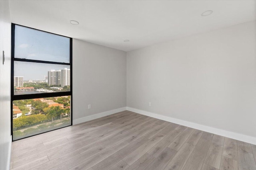
<svg viewBox="0 0 256 170">
<path fill-rule="evenodd" d="M 122 107 L 126 107 L 126 52 L 73 39 L 73 123 Z"/>
</svg>

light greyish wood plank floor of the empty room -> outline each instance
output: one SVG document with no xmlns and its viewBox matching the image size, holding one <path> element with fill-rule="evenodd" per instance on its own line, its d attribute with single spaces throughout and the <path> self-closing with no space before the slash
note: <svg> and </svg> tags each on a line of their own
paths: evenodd
<svg viewBox="0 0 256 170">
<path fill-rule="evenodd" d="M 18 170 L 256 170 L 256 145 L 122 111 L 12 143 Z"/>
</svg>

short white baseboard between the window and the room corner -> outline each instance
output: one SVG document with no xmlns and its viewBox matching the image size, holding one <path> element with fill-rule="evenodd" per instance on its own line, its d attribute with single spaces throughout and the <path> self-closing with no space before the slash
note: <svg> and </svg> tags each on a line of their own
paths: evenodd
<svg viewBox="0 0 256 170">
<path fill-rule="evenodd" d="M 125 111 L 125 110 L 126 110 L 126 107 L 121 107 L 121 108 L 110 110 L 110 111 L 104 111 L 102 113 L 98 113 L 98 114 L 95 114 L 95 115 L 90 115 L 90 116 L 86 116 L 86 117 L 81 117 L 79 119 L 74 119 L 73 120 L 73 125 L 83 123 L 83 122 L 86 122 L 86 121 L 90 121 L 90 120 L 93 120 L 93 119 L 97 119 L 97 118 L 100 118 L 100 117 L 104 117 L 104 116 L 107 116 L 107 115 L 112 115 L 114 113 L 118 113 L 120 111 Z"/>
</svg>

